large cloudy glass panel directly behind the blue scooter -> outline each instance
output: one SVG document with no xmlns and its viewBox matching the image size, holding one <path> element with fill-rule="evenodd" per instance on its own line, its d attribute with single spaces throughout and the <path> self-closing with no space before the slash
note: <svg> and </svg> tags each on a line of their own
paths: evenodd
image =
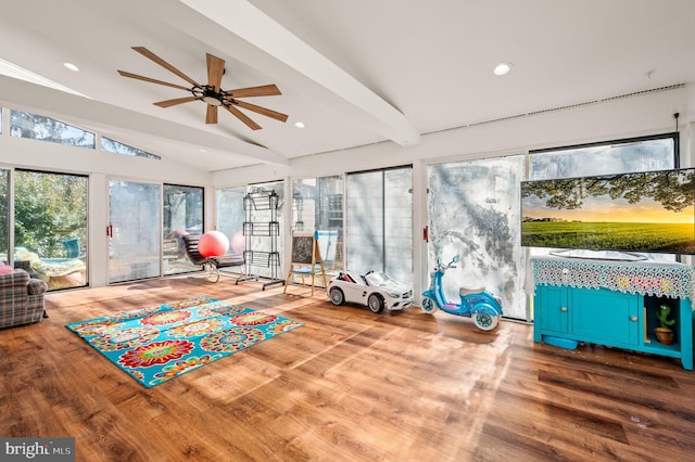
<svg viewBox="0 0 695 462">
<path fill-rule="evenodd" d="M 447 299 L 462 286 L 484 286 L 502 297 L 504 316 L 527 319 L 525 252 L 520 246 L 520 191 L 525 157 L 428 167 L 428 268 L 458 255 L 443 278 Z"/>
</svg>

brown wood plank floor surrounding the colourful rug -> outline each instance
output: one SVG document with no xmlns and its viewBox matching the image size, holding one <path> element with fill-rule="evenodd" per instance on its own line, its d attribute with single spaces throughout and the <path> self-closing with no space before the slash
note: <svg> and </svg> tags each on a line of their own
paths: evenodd
<svg viewBox="0 0 695 462">
<path fill-rule="evenodd" d="M 150 389 L 65 328 L 197 295 L 305 325 Z M 198 275 L 50 294 L 49 319 L 0 330 L 0 436 L 74 437 L 90 462 L 695 458 L 678 362 L 307 295 Z"/>
</svg>

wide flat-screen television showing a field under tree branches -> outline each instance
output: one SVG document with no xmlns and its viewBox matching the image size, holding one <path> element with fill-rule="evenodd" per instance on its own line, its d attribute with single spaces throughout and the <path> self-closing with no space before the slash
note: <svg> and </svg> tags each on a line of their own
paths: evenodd
<svg viewBox="0 0 695 462">
<path fill-rule="evenodd" d="M 521 245 L 695 254 L 695 168 L 522 181 Z"/>
</svg>

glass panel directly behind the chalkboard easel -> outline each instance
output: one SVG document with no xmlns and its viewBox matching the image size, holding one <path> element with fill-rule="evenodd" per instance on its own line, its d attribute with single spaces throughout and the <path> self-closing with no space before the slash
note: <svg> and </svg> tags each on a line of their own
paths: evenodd
<svg viewBox="0 0 695 462">
<path fill-rule="evenodd" d="M 343 177 L 295 180 L 292 231 L 317 231 L 326 271 L 343 269 Z"/>
</svg>

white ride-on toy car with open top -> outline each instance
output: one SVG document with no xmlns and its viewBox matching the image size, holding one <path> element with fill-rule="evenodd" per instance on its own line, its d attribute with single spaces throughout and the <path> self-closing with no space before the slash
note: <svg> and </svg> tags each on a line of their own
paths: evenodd
<svg viewBox="0 0 695 462">
<path fill-rule="evenodd" d="M 413 288 L 395 281 L 383 272 L 341 271 L 332 278 L 326 288 L 333 305 L 355 303 L 366 305 L 372 312 L 383 309 L 401 310 L 413 304 Z"/>
</svg>

